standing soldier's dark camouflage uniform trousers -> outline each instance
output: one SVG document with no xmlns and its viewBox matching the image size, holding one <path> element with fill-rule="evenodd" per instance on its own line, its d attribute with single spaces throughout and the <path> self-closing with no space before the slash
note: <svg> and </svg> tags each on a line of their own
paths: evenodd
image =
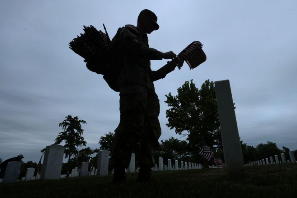
<svg viewBox="0 0 297 198">
<path fill-rule="evenodd" d="M 120 123 L 115 130 L 111 161 L 128 168 L 132 150 L 139 145 L 138 164 L 154 166 L 153 153 L 159 147 L 160 104 L 155 90 L 141 84 L 123 84 L 120 88 Z"/>
</svg>

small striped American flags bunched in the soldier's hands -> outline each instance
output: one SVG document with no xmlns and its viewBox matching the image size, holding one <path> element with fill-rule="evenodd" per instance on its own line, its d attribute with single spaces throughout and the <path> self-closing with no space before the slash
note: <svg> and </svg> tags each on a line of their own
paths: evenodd
<svg viewBox="0 0 297 198">
<path fill-rule="evenodd" d="M 181 53 L 177 55 L 179 69 L 183 66 L 183 62 L 186 61 L 190 69 L 194 69 L 202 62 L 206 61 L 206 55 L 202 50 L 202 44 L 199 41 L 194 41 L 188 45 Z"/>
</svg>

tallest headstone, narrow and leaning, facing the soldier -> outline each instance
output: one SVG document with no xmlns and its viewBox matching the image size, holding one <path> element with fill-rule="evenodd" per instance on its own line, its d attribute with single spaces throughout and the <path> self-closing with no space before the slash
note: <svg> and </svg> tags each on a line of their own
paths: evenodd
<svg viewBox="0 0 297 198">
<path fill-rule="evenodd" d="M 244 163 L 230 82 L 221 80 L 214 84 L 227 175 L 230 179 L 241 179 L 245 177 Z"/>
</svg>

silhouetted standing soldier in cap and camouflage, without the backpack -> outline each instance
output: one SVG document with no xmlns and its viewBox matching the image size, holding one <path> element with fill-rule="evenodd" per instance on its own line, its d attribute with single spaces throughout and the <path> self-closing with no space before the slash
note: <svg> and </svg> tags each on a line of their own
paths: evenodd
<svg viewBox="0 0 297 198">
<path fill-rule="evenodd" d="M 150 181 L 151 168 L 156 164 L 153 153 L 158 148 L 161 127 L 158 120 L 160 105 L 153 81 L 173 71 L 176 63 L 169 62 L 158 71 L 152 71 L 150 60 L 172 59 L 176 55 L 149 48 L 147 34 L 159 29 L 157 16 L 147 9 L 140 12 L 137 26 L 126 25 L 115 38 L 122 70 L 119 75 L 120 123 L 115 130 L 112 164 L 113 183 L 124 182 L 132 150 L 140 142 L 138 181 Z M 114 39 L 113 39 L 114 40 Z"/>
</svg>

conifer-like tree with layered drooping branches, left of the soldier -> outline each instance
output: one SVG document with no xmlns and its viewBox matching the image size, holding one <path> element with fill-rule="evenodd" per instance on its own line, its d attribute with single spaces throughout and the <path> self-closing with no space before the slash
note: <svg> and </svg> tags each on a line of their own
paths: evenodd
<svg viewBox="0 0 297 198">
<path fill-rule="evenodd" d="M 54 144 L 65 143 L 65 158 L 68 157 L 68 162 L 70 162 L 71 155 L 77 156 L 78 154 L 76 147 L 86 146 L 87 142 L 84 141 L 82 137 L 84 130 L 81 128 L 80 124 L 86 124 L 86 121 L 79 120 L 78 116 L 72 118 L 71 115 L 68 115 L 65 118 L 66 119 L 59 124 L 59 127 L 62 127 L 64 131 L 59 133 Z"/>
</svg>

